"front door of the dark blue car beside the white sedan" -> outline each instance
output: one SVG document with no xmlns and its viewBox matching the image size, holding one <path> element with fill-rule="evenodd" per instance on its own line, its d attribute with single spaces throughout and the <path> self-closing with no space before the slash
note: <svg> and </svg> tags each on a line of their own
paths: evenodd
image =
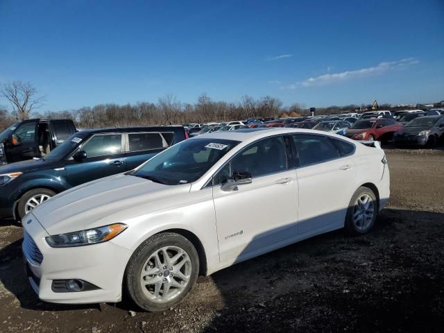
<svg viewBox="0 0 444 333">
<path fill-rule="evenodd" d="M 71 187 L 126 171 L 123 153 L 125 137 L 121 133 L 96 134 L 82 144 L 77 151 L 86 151 L 81 162 L 69 158 L 66 165 L 67 180 Z"/>
</svg>

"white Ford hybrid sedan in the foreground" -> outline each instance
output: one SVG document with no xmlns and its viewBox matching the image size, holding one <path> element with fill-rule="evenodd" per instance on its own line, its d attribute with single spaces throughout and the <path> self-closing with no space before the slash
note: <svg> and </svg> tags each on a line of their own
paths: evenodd
<svg viewBox="0 0 444 333">
<path fill-rule="evenodd" d="M 198 275 L 345 228 L 364 234 L 389 196 L 384 151 L 297 128 L 216 132 L 80 185 L 22 220 L 40 299 L 162 311 Z"/>
</svg>

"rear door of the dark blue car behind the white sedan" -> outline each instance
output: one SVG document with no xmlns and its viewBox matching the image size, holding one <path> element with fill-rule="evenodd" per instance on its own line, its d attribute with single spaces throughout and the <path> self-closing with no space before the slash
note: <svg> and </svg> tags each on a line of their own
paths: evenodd
<svg viewBox="0 0 444 333">
<path fill-rule="evenodd" d="M 173 132 L 126 134 L 126 169 L 133 170 L 173 143 Z"/>
</svg>

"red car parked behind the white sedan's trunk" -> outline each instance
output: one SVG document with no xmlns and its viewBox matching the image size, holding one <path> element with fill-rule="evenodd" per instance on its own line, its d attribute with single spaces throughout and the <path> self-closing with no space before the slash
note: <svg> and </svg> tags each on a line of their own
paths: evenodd
<svg viewBox="0 0 444 333">
<path fill-rule="evenodd" d="M 402 124 L 392 119 L 372 118 L 356 121 L 345 132 L 346 137 L 354 140 L 387 141 L 392 139 L 393 133 L 398 132 Z"/>
</svg>

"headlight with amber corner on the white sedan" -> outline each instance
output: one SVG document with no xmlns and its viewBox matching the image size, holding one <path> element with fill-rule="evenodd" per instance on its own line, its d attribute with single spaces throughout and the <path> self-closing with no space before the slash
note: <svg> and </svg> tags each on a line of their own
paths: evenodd
<svg viewBox="0 0 444 333">
<path fill-rule="evenodd" d="M 115 223 L 94 229 L 68 232 L 67 234 L 55 234 L 46 237 L 46 243 L 52 248 L 98 244 L 113 239 L 126 228 L 128 228 L 126 224 Z"/>
</svg>

